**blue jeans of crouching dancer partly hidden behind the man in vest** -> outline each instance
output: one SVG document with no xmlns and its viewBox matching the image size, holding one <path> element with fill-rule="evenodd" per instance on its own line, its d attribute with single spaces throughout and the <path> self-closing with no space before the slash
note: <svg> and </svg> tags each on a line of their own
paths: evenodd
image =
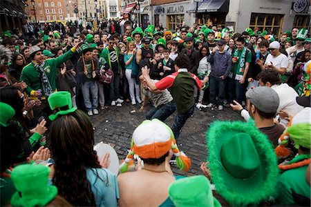
<svg viewBox="0 0 311 207">
<path fill-rule="evenodd" d="M 149 112 L 147 112 L 146 119 L 159 119 L 160 121 L 164 121 L 176 110 L 176 104 L 171 101 L 169 103 L 162 104 L 158 106 L 158 108 L 153 107 Z"/>
</svg>

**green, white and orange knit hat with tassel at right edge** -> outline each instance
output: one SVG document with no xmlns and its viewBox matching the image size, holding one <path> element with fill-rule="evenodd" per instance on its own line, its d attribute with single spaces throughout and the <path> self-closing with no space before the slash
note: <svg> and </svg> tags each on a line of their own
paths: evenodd
<svg viewBox="0 0 311 207">
<path fill-rule="evenodd" d="M 279 138 L 279 146 L 275 148 L 276 156 L 278 157 L 288 157 L 290 155 L 290 150 L 285 148 L 288 144 L 288 140 L 292 139 L 294 141 L 294 147 L 299 148 L 303 146 L 304 148 L 311 148 L 311 108 L 306 107 L 297 113 L 292 121 L 285 128 L 283 135 Z"/>
</svg>

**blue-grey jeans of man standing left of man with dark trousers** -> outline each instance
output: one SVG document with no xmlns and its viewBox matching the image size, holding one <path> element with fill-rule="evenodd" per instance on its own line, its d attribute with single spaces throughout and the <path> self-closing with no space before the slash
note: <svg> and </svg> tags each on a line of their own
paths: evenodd
<svg viewBox="0 0 311 207">
<path fill-rule="evenodd" d="M 98 87 L 96 81 L 85 81 L 82 83 L 82 94 L 86 110 L 90 111 L 96 109 L 98 106 Z M 92 101 L 90 100 L 90 95 Z"/>
</svg>

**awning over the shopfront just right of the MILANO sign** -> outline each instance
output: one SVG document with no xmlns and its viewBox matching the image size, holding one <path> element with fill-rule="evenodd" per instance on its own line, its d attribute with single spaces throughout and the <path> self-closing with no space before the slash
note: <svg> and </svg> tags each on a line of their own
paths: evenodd
<svg viewBox="0 0 311 207">
<path fill-rule="evenodd" d="M 228 12 L 227 0 L 204 0 L 198 7 L 198 12 Z"/>
</svg>

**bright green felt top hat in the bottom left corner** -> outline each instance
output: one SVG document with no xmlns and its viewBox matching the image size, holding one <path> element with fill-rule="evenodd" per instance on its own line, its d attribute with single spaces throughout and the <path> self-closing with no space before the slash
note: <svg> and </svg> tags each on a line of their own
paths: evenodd
<svg viewBox="0 0 311 207">
<path fill-rule="evenodd" d="M 57 188 L 48 186 L 50 168 L 43 165 L 16 166 L 11 179 L 17 190 L 12 195 L 12 206 L 46 206 L 57 196 Z"/>
</svg>

